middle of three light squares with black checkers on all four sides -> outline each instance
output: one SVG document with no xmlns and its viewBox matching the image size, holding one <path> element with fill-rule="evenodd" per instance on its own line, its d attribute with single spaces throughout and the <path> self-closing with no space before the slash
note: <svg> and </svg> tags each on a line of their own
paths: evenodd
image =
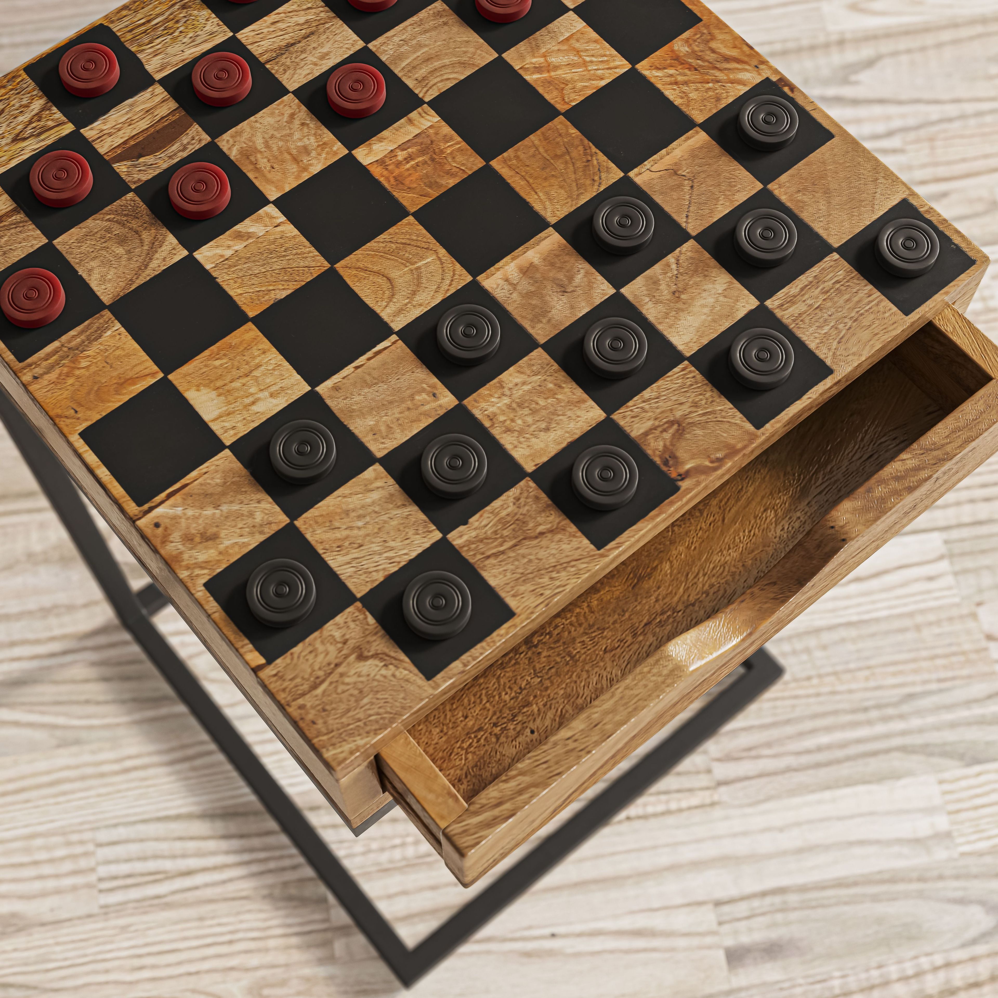
<svg viewBox="0 0 998 998">
<path fill-rule="evenodd" d="M 527 354 L 465 405 L 527 471 L 603 418 L 596 403 L 543 350 Z"/>
</svg>

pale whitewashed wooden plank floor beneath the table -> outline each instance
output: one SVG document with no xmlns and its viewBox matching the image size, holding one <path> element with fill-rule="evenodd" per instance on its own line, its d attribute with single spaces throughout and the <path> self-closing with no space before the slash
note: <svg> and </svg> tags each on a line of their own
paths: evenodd
<svg viewBox="0 0 998 998">
<path fill-rule="evenodd" d="M 0 69 L 106 2 L 3 0 Z M 998 254 L 995 0 L 715 6 Z M 971 315 L 998 339 L 998 275 Z M 171 613 L 408 941 L 468 898 L 397 811 L 338 826 Z M 998 995 L 998 460 L 771 649 L 782 684 L 415 993 Z M 398 991 L 115 624 L 5 436 L 0 753 L 3 998 Z"/>
</svg>

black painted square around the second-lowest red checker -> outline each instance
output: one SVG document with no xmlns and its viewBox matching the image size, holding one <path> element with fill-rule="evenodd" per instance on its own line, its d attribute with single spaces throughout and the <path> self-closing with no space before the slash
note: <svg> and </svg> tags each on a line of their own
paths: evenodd
<svg viewBox="0 0 998 998">
<path fill-rule="evenodd" d="M 214 163 L 229 178 L 233 196 L 226 209 L 214 219 L 185 219 L 170 203 L 170 180 L 181 167 L 189 163 Z M 190 156 L 157 174 L 136 188 L 135 193 L 150 211 L 174 234 L 185 250 L 194 252 L 245 222 L 267 204 L 263 193 L 249 177 L 214 142 L 202 146 Z"/>
</svg>

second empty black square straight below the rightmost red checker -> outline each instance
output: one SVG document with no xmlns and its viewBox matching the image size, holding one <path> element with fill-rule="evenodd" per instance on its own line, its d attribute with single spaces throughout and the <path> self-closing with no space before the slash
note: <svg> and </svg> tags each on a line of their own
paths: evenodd
<svg viewBox="0 0 998 998">
<path fill-rule="evenodd" d="M 472 275 L 484 273 L 548 228 L 490 166 L 438 194 L 415 218 Z"/>
</svg>

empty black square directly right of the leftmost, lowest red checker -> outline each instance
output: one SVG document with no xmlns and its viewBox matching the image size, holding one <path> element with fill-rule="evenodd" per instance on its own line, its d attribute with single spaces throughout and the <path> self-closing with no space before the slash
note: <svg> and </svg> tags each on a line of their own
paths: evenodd
<svg viewBox="0 0 998 998">
<path fill-rule="evenodd" d="M 108 307 L 164 374 L 248 321 L 194 256 L 179 259 Z"/>
</svg>

